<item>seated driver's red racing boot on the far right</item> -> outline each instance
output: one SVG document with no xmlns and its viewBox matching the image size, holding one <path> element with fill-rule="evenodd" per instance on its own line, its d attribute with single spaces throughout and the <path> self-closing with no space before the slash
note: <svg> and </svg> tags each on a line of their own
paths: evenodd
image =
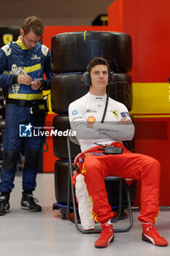
<svg viewBox="0 0 170 256">
<path fill-rule="evenodd" d="M 157 246 L 167 246 L 169 243 L 157 231 L 157 228 L 150 222 L 142 223 L 142 240 Z"/>
</svg>

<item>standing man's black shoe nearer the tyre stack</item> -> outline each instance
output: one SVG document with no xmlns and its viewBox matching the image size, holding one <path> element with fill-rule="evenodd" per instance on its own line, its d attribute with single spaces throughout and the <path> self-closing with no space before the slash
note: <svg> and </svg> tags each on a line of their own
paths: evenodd
<svg viewBox="0 0 170 256">
<path fill-rule="evenodd" d="M 32 192 L 22 192 L 23 197 L 20 202 L 21 209 L 28 211 L 42 211 L 42 207 L 37 203 L 39 200 L 33 197 Z"/>
</svg>

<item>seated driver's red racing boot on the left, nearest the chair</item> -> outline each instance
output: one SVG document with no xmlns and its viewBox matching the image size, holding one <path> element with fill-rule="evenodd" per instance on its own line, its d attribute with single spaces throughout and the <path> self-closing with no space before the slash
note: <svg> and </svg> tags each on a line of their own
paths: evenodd
<svg viewBox="0 0 170 256">
<path fill-rule="evenodd" d="M 104 248 L 109 245 L 112 241 L 114 241 L 114 235 L 113 235 L 113 226 L 111 225 L 106 225 L 102 224 L 102 231 L 100 234 L 100 237 L 98 240 L 96 240 L 94 246 L 97 248 Z"/>
</svg>

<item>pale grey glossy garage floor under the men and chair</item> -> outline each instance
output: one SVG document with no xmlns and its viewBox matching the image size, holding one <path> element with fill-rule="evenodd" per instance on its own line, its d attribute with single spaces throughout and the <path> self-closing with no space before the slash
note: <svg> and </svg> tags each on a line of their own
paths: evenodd
<svg viewBox="0 0 170 256">
<path fill-rule="evenodd" d="M 20 209 L 21 176 L 15 177 L 15 189 L 11 194 L 9 214 L 0 217 L 0 254 L 3 256 L 39 255 L 170 255 L 170 246 L 158 247 L 141 240 L 141 224 L 137 220 L 139 210 L 133 211 L 134 226 L 128 233 L 116 233 L 115 241 L 105 249 L 96 249 L 93 244 L 98 234 L 79 233 L 74 224 L 61 219 L 55 202 L 53 173 L 37 176 L 34 196 L 39 198 L 42 212 L 32 213 Z M 128 218 L 114 224 L 125 225 Z M 157 220 L 159 232 L 170 241 L 170 209 L 161 209 Z"/>
</svg>

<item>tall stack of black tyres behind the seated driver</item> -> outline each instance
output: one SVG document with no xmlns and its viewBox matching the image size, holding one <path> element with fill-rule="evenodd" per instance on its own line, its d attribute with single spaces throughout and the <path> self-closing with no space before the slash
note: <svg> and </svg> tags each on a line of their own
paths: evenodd
<svg viewBox="0 0 170 256">
<path fill-rule="evenodd" d="M 132 67 L 131 37 L 128 34 L 111 31 L 80 31 L 63 33 L 51 40 L 52 68 L 55 75 L 52 80 L 51 104 L 54 113 L 55 129 L 65 131 L 70 129 L 69 104 L 88 93 L 88 86 L 82 83 L 82 73 L 88 62 L 95 56 L 107 59 L 116 74 L 116 82 L 111 87 L 109 97 L 132 108 L 132 80 L 127 72 Z M 126 143 L 126 142 L 125 142 Z M 128 148 L 134 151 L 134 141 L 128 143 Z M 66 205 L 68 181 L 68 153 L 66 137 L 53 136 L 53 151 L 59 159 L 55 162 L 55 197 L 58 205 Z M 72 157 L 77 155 L 72 144 Z M 118 188 L 107 181 L 107 192 L 111 206 L 117 206 Z M 113 197 L 114 195 L 114 197 Z M 136 183 L 131 184 L 131 202 L 136 196 Z M 126 198 L 123 196 L 123 203 Z"/>
</svg>

